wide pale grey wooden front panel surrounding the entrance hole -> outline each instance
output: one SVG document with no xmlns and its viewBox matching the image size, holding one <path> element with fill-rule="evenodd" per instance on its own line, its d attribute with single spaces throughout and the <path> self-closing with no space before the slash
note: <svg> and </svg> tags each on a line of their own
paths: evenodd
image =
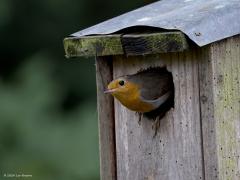
<svg viewBox="0 0 240 180">
<path fill-rule="evenodd" d="M 160 121 L 153 138 L 152 121 L 115 103 L 118 180 L 203 179 L 196 52 L 158 56 L 117 56 L 114 78 L 148 67 L 166 66 L 173 73 L 175 107 Z"/>
</svg>

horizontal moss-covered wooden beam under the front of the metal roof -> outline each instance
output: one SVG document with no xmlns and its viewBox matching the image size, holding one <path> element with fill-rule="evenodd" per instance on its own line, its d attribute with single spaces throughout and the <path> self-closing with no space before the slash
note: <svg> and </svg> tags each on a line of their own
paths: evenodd
<svg viewBox="0 0 240 180">
<path fill-rule="evenodd" d="M 66 57 L 147 55 L 182 52 L 188 49 L 186 36 L 181 32 L 145 34 L 112 34 L 64 39 Z"/>
</svg>

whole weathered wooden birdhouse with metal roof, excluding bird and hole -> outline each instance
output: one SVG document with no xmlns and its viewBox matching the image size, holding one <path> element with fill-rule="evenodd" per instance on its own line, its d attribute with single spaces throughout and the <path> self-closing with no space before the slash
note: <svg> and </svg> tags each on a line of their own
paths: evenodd
<svg viewBox="0 0 240 180">
<path fill-rule="evenodd" d="M 96 57 L 101 179 L 240 179 L 239 17 L 239 0 L 162 0 L 64 39 L 66 57 Z M 155 137 L 103 93 L 148 68 L 174 84 Z"/>
</svg>

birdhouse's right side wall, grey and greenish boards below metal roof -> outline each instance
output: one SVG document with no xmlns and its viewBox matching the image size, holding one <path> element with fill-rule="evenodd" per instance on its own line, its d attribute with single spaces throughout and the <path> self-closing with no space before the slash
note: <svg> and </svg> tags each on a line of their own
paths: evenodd
<svg viewBox="0 0 240 180">
<path fill-rule="evenodd" d="M 200 66 L 205 176 L 239 180 L 240 36 L 207 49 L 209 54 Z"/>
</svg>

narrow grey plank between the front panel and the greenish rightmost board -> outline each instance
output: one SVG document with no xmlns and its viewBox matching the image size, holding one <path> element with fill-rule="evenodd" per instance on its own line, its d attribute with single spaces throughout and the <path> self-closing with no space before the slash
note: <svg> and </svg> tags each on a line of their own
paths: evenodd
<svg viewBox="0 0 240 180">
<path fill-rule="evenodd" d="M 202 119 L 203 157 L 206 180 L 218 179 L 216 131 L 213 106 L 212 66 L 209 46 L 199 50 L 199 92 Z"/>
</svg>

